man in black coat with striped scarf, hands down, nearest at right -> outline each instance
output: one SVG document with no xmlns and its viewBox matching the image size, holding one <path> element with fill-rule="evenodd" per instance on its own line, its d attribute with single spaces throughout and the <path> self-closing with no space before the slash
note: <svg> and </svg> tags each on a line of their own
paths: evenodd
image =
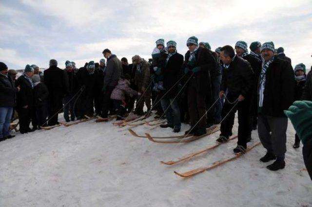
<svg viewBox="0 0 312 207">
<path fill-rule="evenodd" d="M 289 61 L 274 56 L 273 42 L 261 47 L 264 58 L 258 85 L 258 134 L 267 154 L 262 162 L 276 159 L 267 168 L 277 171 L 285 167 L 286 131 L 288 120 L 284 114 L 294 99 L 294 73 Z"/>
</svg>

